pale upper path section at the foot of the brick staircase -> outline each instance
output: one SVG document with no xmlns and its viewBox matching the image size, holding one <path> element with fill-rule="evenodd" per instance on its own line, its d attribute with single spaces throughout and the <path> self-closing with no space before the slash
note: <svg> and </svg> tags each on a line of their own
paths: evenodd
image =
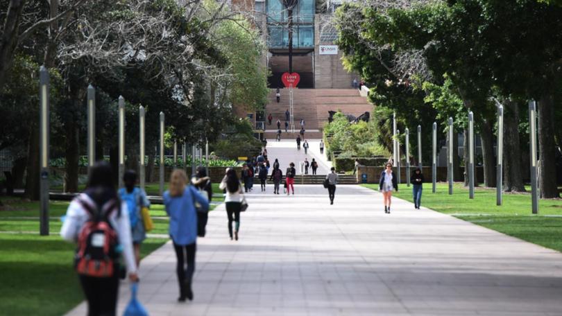
<svg viewBox="0 0 562 316">
<path fill-rule="evenodd" d="M 275 158 L 279 159 L 280 168 L 285 173 L 285 170 L 289 168 L 289 164 L 293 162 L 295 168 L 297 169 L 297 174 L 300 175 L 300 162 L 316 159 L 318 162 L 318 170 L 316 173 L 318 175 L 326 175 L 330 172 L 332 164 L 327 161 L 325 155 L 320 155 L 320 140 L 318 139 L 307 139 L 309 143 L 309 148 L 307 155 L 305 155 L 305 150 L 303 149 L 303 143 L 300 143 L 300 150 L 297 150 L 295 140 L 282 140 L 282 141 L 267 141 L 267 158 L 269 163 L 273 166 L 273 161 Z M 308 170 L 309 174 L 312 174 L 312 169 Z"/>
</svg>

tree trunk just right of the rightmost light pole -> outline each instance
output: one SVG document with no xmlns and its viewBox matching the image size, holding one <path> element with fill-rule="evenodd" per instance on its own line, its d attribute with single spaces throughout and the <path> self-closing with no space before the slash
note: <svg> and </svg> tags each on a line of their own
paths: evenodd
<svg viewBox="0 0 562 316">
<path fill-rule="evenodd" d="M 559 198 L 554 148 L 554 102 L 550 95 L 542 96 L 538 102 L 538 159 L 540 197 Z"/>
</svg>

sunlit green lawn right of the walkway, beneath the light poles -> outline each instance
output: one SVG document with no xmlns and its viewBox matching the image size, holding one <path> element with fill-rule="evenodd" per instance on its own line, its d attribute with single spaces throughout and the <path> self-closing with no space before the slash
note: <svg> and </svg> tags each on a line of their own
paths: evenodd
<svg viewBox="0 0 562 316">
<path fill-rule="evenodd" d="M 378 190 L 378 184 L 364 184 Z M 468 198 L 468 189 L 454 184 L 453 195 L 448 194 L 448 184 L 438 183 L 436 193 L 432 184 L 424 184 L 423 207 L 447 213 L 462 220 L 500 231 L 531 243 L 562 252 L 562 200 L 539 200 L 538 215 L 531 213 L 529 193 L 504 193 L 503 205 L 496 205 L 495 188 L 476 188 L 475 198 Z M 394 196 L 413 201 L 411 188 L 400 185 Z"/>
</svg>

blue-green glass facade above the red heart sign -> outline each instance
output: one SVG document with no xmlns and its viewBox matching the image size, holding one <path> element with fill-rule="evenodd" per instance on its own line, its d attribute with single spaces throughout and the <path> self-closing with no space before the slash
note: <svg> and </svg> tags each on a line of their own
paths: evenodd
<svg viewBox="0 0 562 316">
<path fill-rule="evenodd" d="M 287 9 L 281 0 L 266 0 L 267 34 L 270 49 L 289 48 Z M 293 48 L 314 48 L 314 0 L 299 0 L 293 10 Z"/>
</svg>

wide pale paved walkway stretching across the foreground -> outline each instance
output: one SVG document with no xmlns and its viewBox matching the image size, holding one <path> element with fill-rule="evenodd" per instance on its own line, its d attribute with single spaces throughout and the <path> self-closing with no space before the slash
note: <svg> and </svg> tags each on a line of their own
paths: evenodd
<svg viewBox="0 0 562 316">
<path fill-rule="evenodd" d="M 338 186 L 334 205 L 299 185 L 248 203 L 237 242 L 223 206 L 210 213 L 194 301 L 176 302 L 169 243 L 142 262 L 151 315 L 562 315 L 559 252 L 398 199 L 385 214 L 360 186 Z M 128 286 L 120 297 L 121 313 Z"/>
</svg>

